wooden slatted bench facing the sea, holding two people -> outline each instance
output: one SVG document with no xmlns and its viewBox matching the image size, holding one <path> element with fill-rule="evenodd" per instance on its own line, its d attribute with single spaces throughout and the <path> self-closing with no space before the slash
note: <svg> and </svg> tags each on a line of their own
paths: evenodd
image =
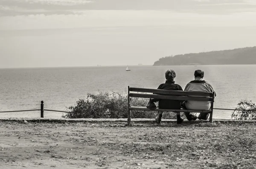
<svg viewBox="0 0 256 169">
<path fill-rule="evenodd" d="M 209 122 L 212 123 L 212 112 L 214 103 L 214 92 L 187 92 L 176 90 L 162 90 L 162 89 L 147 89 L 128 86 L 128 124 L 131 123 L 131 110 L 144 111 L 164 111 L 164 112 L 195 112 L 195 113 L 210 113 Z M 210 101 L 211 108 L 209 110 L 188 110 L 188 109 L 154 109 L 150 110 L 146 107 L 131 106 L 131 97 L 141 98 L 156 98 L 169 100 L 194 100 L 194 101 Z"/>
</svg>

